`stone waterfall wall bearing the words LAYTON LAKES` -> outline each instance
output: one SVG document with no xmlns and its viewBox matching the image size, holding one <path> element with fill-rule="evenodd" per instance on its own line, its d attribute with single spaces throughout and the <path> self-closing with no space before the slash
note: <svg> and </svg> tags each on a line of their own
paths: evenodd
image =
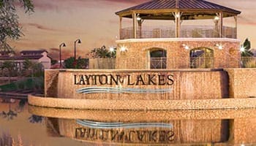
<svg viewBox="0 0 256 146">
<path fill-rule="evenodd" d="M 95 88 L 95 90 L 113 88 L 120 93 L 110 93 L 107 89 L 103 93 L 80 93 L 78 90 L 83 88 Z M 140 91 L 145 92 L 138 93 Z M 48 97 L 64 99 L 113 100 L 222 99 L 229 97 L 228 77 L 222 69 L 47 70 L 45 72 L 45 94 Z"/>
</svg>

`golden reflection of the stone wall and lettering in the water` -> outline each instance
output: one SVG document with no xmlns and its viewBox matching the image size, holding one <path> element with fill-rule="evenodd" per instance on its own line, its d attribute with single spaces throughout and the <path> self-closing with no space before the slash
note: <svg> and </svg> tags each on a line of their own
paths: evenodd
<svg viewBox="0 0 256 146">
<path fill-rule="evenodd" d="M 54 135 L 54 137 L 69 137 L 70 139 L 76 139 L 86 143 L 126 143 L 130 145 L 256 144 L 256 139 L 253 138 L 256 137 L 256 110 L 108 111 L 57 110 L 42 107 L 30 107 L 29 110 L 38 115 L 50 117 L 54 117 L 52 114 L 56 115 L 57 118 L 46 118 L 48 132 L 51 132 L 51 135 Z M 187 114 L 181 114 L 184 112 Z M 98 123 L 105 124 L 152 122 L 170 124 L 173 127 L 119 127 L 107 129 L 89 127 L 77 123 L 76 119 L 78 115 L 83 116 L 86 120 L 94 120 Z M 142 115 L 146 115 L 148 118 Z M 105 118 L 109 116 L 111 119 Z M 102 118 L 105 118 L 105 120 L 102 120 Z"/>
</svg>

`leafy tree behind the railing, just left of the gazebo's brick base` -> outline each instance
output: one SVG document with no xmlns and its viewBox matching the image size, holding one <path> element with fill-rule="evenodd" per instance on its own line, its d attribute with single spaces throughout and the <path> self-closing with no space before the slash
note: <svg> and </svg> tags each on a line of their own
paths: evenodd
<svg viewBox="0 0 256 146">
<path fill-rule="evenodd" d="M 91 50 L 91 55 L 93 58 L 116 58 L 116 48 L 110 51 L 103 45 L 102 47 Z"/>
</svg>

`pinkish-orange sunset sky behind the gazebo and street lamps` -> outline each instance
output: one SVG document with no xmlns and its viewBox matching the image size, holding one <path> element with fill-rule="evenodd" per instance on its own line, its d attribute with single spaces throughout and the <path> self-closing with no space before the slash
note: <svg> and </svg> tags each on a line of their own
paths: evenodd
<svg viewBox="0 0 256 146">
<path fill-rule="evenodd" d="M 115 12 L 148 0 L 33 0 L 34 13 L 23 14 L 18 9 L 23 34 L 19 41 L 10 42 L 19 50 L 46 49 L 53 58 L 58 59 L 59 45 L 63 47 L 64 58 L 73 56 L 74 41 L 78 55 L 85 57 L 94 47 L 116 46 L 118 39 L 118 16 Z M 238 16 L 238 39 L 247 37 L 256 48 L 256 1 L 255 0 L 208 0 L 233 9 L 240 10 Z M 130 24 L 132 25 L 132 23 Z"/>
</svg>

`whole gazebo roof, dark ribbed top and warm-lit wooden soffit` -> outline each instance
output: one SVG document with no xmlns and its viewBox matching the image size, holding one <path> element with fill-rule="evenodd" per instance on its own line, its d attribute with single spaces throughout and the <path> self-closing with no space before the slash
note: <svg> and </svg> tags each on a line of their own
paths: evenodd
<svg viewBox="0 0 256 146">
<path fill-rule="evenodd" d="M 240 14 L 236 9 L 214 4 L 204 0 L 151 0 L 135 7 L 116 12 L 124 18 L 132 18 L 133 13 L 140 14 L 143 19 L 173 20 L 173 12 L 183 12 L 182 20 L 210 19 L 222 12 L 223 17 Z"/>
</svg>

